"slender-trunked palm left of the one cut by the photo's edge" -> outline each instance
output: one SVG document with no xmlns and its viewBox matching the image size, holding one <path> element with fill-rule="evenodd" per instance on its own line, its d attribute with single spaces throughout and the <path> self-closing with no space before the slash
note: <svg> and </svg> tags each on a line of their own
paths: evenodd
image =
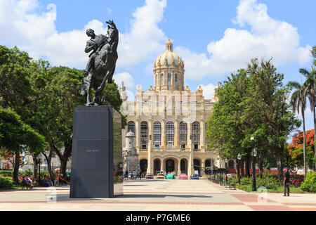
<svg viewBox="0 0 316 225">
<path fill-rule="evenodd" d="M 303 160 L 304 160 L 304 173 L 306 174 L 306 141 L 305 141 L 305 108 L 306 108 L 306 87 L 304 85 L 299 84 L 298 82 L 289 82 L 289 86 L 294 88 L 294 92 L 291 95 L 291 106 L 292 110 L 295 113 L 300 113 L 303 118 Z"/>
</svg>

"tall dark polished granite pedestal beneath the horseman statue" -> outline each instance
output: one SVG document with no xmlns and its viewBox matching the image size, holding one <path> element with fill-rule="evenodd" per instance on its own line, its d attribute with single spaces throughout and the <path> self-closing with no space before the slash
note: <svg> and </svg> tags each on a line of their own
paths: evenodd
<svg viewBox="0 0 316 225">
<path fill-rule="evenodd" d="M 114 113 L 114 116 L 113 116 Z M 119 113 L 110 106 L 79 106 L 74 110 L 70 198 L 113 198 L 123 194 L 122 172 L 114 159 L 121 141 Z M 115 121 L 117 119 L 117 121 Z M 117 129 L 117 131 L 115 131 Z M 121 160 L 122 161 L 122 160 Z"/>
</svg>

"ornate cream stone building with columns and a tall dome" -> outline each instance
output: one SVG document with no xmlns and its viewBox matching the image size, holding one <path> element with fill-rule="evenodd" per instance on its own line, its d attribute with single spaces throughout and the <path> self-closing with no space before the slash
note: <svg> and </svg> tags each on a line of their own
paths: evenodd
<svg viewBox="0 0 316 225">
<path fill-rule="evenodd" d="M 142 174 L 164 170 L 176 175 L 205 173 L 205 167 L 224 167 L 218 154 L 206 146 L 206 122 L 213 110 L 213 101 L 205 99 L 203 89 L 191 91 L 185 86 L 185 63 L 173 53 L 173 43 L 153 65 L 154 85 L 136 89 L 135 101 L 127 101 L 124 84 L 120 86 L 122 113 L 127 127 L 136 135 L 136 150 Z M 123 148 L 125 142 L 122 141 Z M 126 146 L 127 147 L 127 146 Z"/>
</svg>

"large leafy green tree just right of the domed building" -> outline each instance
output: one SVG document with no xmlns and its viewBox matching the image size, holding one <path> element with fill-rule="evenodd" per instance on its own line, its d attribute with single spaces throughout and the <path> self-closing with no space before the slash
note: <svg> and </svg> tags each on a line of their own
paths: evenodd
<svg viewBox="0 0 316 225">
<path fill-rule="evenodd" d="M 289 89 L 282 86 L 283 77 L 270 60 L 251 60 L 248 68 L 238 70 L 216 90 L 218 102 L 206 131 L 209 148 L 218 150 L 222 157 L 235 158 L 242 153 L 246 161 L 251 157 L 250 137 L 254 136 L 258 155 L 264 158 L 269 151 L 275 156 L 279 181 L 287 137 L 301 125 L 289 110 Z"/>
</svg>

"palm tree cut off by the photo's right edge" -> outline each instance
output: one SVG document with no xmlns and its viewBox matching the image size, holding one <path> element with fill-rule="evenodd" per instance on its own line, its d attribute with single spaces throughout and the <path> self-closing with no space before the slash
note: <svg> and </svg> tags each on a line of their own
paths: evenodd
<svg viewBox="0 0 316 225">
<path fill-rule="evenodd" d="M 310 101 L 310 111 L 312 112 L 314 118 L 314 154 L 316 159 L 316 116 L 315 116 L 315 106 L 316 106 L 316 70 L 312 68 L 311 71 L 301 68 L 299 72 L 306 77 L 304 86 L 306 89 L 306 94 L 308 100 Z M 316 165 L 315 165 L 316 168 Z"/>
</svg>

